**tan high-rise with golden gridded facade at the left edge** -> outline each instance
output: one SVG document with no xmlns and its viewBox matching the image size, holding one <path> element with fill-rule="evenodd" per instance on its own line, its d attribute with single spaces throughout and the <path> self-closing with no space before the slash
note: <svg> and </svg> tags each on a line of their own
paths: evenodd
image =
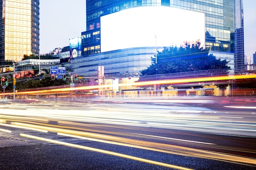
<svg viewBox="0 0 256 170">
<path fill-rule="evenodd" d="M 39 0 L 0 0 L 0 63 L 39 54 Z"/>
</svg>

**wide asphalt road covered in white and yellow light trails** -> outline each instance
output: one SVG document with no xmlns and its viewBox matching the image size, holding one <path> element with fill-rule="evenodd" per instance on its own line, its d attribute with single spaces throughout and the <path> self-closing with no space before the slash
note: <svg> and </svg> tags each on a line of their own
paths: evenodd
<svg viewBox="0 0 256 170">
<path fill-rule="evenodd" d="M 246 101 L 6 100 L 0 169 L 253 170 L 255 105 Z"/>
</svg>

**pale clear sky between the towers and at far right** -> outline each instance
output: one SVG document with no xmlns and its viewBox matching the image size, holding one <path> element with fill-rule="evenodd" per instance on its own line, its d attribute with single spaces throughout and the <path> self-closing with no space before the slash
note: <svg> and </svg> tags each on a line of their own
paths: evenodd
<svg viewBox="0 0 256 170">
<path fill-rule="evenodd" d="M 252 57 L 256 52 L 256 0 L 243 0 L 243 7 L 245 56 Z M 86 0 L 40 1 L 40 54 L 69 46 L 69 39 L 81 37 L 86 31 L 85 10 Z"/>
</svg>

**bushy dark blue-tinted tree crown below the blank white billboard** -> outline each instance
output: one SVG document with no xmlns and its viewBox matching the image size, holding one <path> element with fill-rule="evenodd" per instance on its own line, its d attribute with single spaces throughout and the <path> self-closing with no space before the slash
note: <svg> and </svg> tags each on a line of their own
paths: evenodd
<svg viewBox="0 0 256 170">
<path fill-rule="evenodd" d="M 156 58 L 151 57 L 151 65 L 141 71 L 141 75 L 169 74 L 178 72 L 191 72 L 199 70 L 215 70 L 221 74 L 228 74 L 230 67 L 228 61 L 216 59 L 213 54 L 209 54 L 208 49 L 200 47 L 200 41 L 194 44 L 184 42 L 180 48 L 164 47 L 162 52 L 158 51 Z"/>
</svg>

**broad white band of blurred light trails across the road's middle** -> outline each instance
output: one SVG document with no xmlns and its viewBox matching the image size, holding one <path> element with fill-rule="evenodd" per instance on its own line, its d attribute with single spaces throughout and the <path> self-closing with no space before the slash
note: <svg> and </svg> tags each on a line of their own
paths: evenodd
<svg viewBox="0 0 256 170">
<path fill-rule="evenodd" d="M 44 107 L 42 107 L 44 108 Z M 160 111 L 158 111 L 160 110 Z M 197 110 L 191 113 L 191 110 Z M 210 112 L 209 112 L 210 111 Z M 175 106 L 157 106 L 141 107 L 140 105 L 127 107 L 120 105 L 118 108 L 109 108 L 108 106 L 92 105 L 85 109 L 40 109 L 27 108 L 17 112 L 16 109 L 9 109 L 12 115 L 18 117 L 9 117 L 10 119 L 33 120 L 40 117 L 39 121 L 44 119 L 66 120 L 66 121 L 89 121 L 94 123 L 117 124 L 141 127 L 163 127 L 167 129 L 184 129 L 189 131 L 200 131 L 207 133 L 218 133 L 241 136 L 256 135 L 256 121 L 254 118 L 236 115 L 235 113 L 217 113 L 200 107 L 175 107 Z M 0 108 L 1 117 L 8 114 L 6 109 Z M 38 118 L 37 118 L 38 119 Z M 42 120 L 41 120 L 42 119 Z M 47 121 L 45 121 L 47 122 Z"/>
</svg>

